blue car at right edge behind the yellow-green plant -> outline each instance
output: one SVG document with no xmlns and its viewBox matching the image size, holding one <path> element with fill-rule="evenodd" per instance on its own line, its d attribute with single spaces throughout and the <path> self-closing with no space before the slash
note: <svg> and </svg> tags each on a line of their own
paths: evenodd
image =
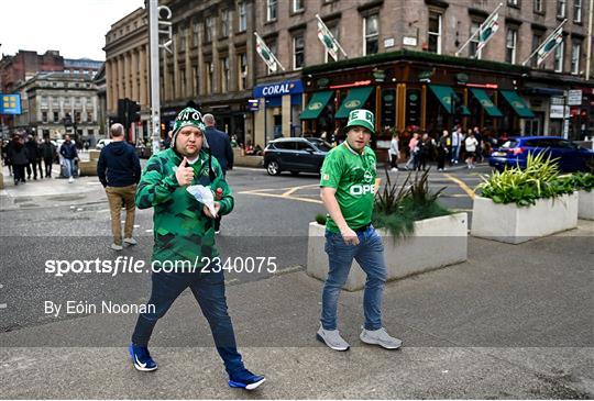
<svg viewBox="0 0 594 401">
<path fill-rule="evenodd" d="M 497 170 L 506 166 L 526 168 L 528 154 L 547 152 L 558 158 L 561 171 L 590 171 L 594 168 L 594 151 L 586 149 L 561 136 L 518 136 L 496 148 L 488 165 Z"/>
</svg>

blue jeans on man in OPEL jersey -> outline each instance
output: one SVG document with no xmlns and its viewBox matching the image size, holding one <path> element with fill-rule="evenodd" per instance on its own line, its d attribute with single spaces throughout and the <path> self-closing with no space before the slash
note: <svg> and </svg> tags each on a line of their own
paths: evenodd
<svg viewBox="0 0 594 401">
<path fill-rule="evenodd" d="M 358 231 L 359 245 L 348 245 L 342 235 L 326 231 L 326 253 L 330 265 L 322 292 L 321 324 L 324 330 L 337 328 L 337 308 L 340 291 L 346 282 L 353 258 L 367 275 L 363 294 L 365 330 L 382 328 L 382 297 L 386 282 L 384 245 L 373 226 Z"/>
</svg>

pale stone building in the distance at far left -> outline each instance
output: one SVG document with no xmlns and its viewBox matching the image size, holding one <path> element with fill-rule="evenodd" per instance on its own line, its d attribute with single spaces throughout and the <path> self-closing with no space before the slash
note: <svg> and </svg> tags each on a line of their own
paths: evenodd
<svg viewBox="0 0 594 401">
<path fill-rule="evenodd" d="M 14 130 L 54 140 L 70 134 L 80 142 L 95 144 L 99 103 L 90 75 L 38 73 L 14 91 L 21 94 L 22 103 L 22 113 L 14 116 Z"/>
</svg>

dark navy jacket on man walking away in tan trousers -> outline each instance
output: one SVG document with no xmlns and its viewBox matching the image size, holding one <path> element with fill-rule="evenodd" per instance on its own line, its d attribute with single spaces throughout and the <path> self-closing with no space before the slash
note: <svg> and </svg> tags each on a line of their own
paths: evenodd
<svg viewBox="0 0 594 401">
<path fill-rule="evenodd" d="M 97 175 L 103 187 L 128 187 L 139 183 L 141 167 L 134 147 L 127 142 L 112 142 L 101 149 Z"/>
</svg>

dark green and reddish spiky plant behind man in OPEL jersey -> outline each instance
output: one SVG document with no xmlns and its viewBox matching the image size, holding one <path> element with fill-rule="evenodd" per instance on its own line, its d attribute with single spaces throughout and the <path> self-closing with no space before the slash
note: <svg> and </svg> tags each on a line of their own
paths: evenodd
<svg viewBox="0 0 594 401">
<path fill-rule="evenodd" d="M 446 187 L 437 192 L 429 190 L 429 170 L 422 174 L 409 172 L 402 186 L 392 182 L 386 167 L 386 185 L 375 196 L 372 224 L 386 229 L 394 241 L 411 235 L 415 222 L 451 214 L 438 203 Z"/>
</svg>

